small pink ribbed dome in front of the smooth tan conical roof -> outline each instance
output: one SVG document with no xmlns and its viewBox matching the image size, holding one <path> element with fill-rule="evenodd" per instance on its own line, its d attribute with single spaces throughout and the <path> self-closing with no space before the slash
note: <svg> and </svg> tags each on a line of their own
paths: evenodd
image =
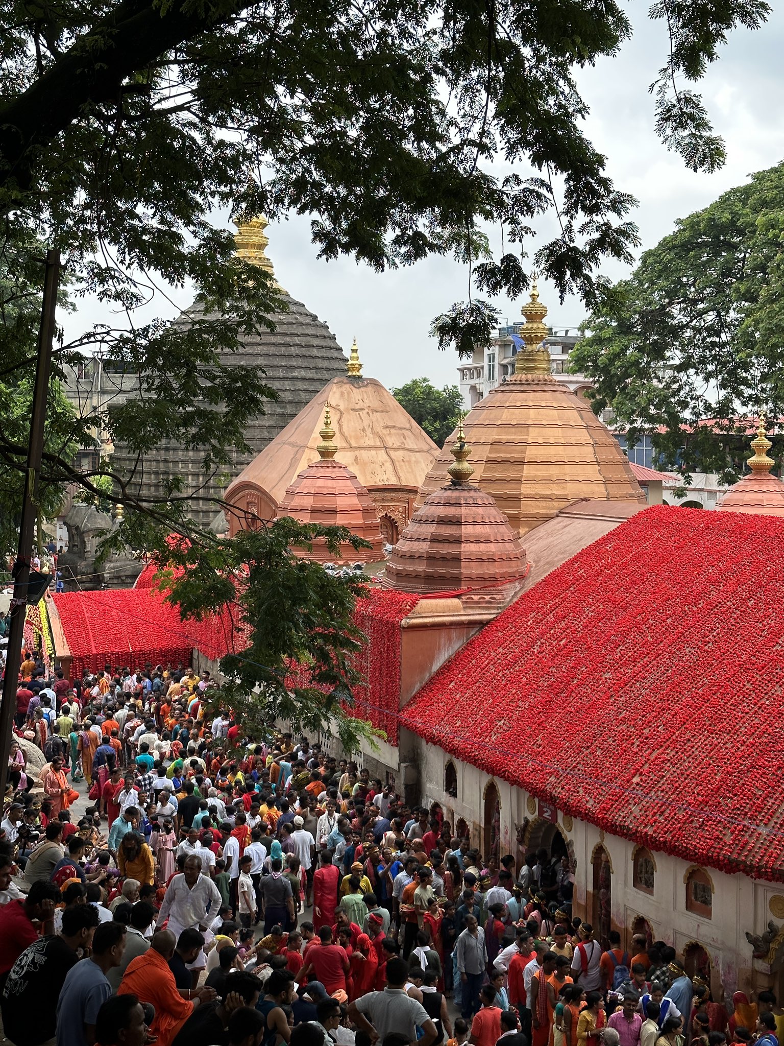
<svg viewBox="0 0 784 1046">
<path fill-rule="evenodd" d="M 335 429 L 330 410 L 324 411 L 319 458 L 310 462 L 286 490 L 277 518 L 291 516 L 300 523 L 318 523 L 322 526 L 344 526 L 358 538 L 369 541 L 370 548 L 355 549 L 348 543 L 341 546 L 336 556 L 323 539 L 313 543 L 313 549 L 297 548 L 303 560 L 319 563 L 375 563 L 384 559 L 384 539 L 372 498 L 356 476 L 335 455 Z"/>
</svg>

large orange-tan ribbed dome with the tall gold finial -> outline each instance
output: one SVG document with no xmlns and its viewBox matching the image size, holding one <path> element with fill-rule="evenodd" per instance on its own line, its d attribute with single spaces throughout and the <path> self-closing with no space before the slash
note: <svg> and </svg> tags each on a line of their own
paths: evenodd
<svg viewBox="0 0 784 1046">
<path fill-rule="evenodd" d="M 517 354 L 515 373 L 464 422 L 475 480 L 521 536 L 583 499 L 644 504 L 645 495 L 613 434 L 584 400 L 550 373 L 550 354 L 541 344 L 547 310 L 535 285 L 523 313 L 525 347 Z M 455 438 L 453 433 L 429 472 L 417 507 L 447 479 Z"/>
</svg>

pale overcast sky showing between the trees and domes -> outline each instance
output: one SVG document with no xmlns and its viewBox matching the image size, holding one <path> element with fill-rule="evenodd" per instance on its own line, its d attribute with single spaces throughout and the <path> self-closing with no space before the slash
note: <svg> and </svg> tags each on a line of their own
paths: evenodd
<svg viewBox="0 0 784 1046">
<path fill-rule="evenodd" d="M 647 8 L 647 2 L 629 5 L 635 35 L 619 58 L 602 60 L 578 75 L 578 86 L 591 107 L 586 133 L 606 155 L 607 173 L 616 186 L 639 201 L 630 217 L 640 228 L 641 249 L 653 247 L 671 232 L 677 218 L 705 207 L 784 154 L 782 9 L 775 8 L 766 26 L 756 33 L 734 32 L 720 61 L 698 85 L 728 151 L 725 166 L 705 175 L 687 170 L 653 133 L 648 85 L 665 62 L 667 41 L 663 25 L 645 17 Z M 543 225 L 541 241 L 533 243 L 533 249 L 551 234 L 552 228 Z M 439 353 L 428 332 L 435 315 L 466 297 L 465 268 L 435 258 L 376 274 L 348 258 L 320 262 L 306 218 L 275 223 L 268 235 L 268 254 L 281 286 L 329 325 L 346 353 L 356 337 L 366 376 L 388 386 L 425 376 L 437 385 L 457 382 L 457 357 Z M 492 246 L 498 250 L 499 244 Z M 533 251 L 529 248 L 529 252 Z M 614 264 L 604 271 L 618 279 L 627 270 Z M 546 283 L 540 286 L 540 296 L 549 308 L 549 323 L 576 326 L 584 318 L 578 300 L 560 304 Z M 185 305 L 189 296 L 178 295 L 176 300 Z M 495 303 L 510 319 L 520 318 L 520 302 L 499 299 Z M 162 305 L 160 312 L 171 315 Z M 83 319 L 94 318 L 93 311 L 85 309 Z M 67 327 L 69 334 L 75 333 L 75 318 Z"/>
</svg>

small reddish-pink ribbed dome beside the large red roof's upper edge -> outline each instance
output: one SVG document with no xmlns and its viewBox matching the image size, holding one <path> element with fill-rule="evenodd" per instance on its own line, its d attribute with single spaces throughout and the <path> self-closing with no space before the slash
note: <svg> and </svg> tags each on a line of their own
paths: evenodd
<svg viewBox="0 0 784 1046">
<path fill-rule="evenodd" d="M 526 552 L 489 494 L 467 482 L 462 427 L 453 447 L 452 482 L 430 494 L 387 558 L 385 585 L 401 592 L 444 592 L 523 577 Z"/>
</svg>

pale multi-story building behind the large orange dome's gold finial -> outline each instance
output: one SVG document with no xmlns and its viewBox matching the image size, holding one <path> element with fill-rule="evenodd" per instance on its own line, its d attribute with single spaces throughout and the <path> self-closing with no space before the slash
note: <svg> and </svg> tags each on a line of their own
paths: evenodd
<svg viewBox="0 0 784 1046">
<path fill-rule="evenodd" d="M 502 385 L 506 378 L 514 373 L 514 357 L 517 355 L 522 326 L 523 321 L 500 327 L 488 348 L 475 348 L 470 362 L 459 364 L 460 391 L 468 407 L 476 406 L 490 389 Z M 581 395 L 591 387 L 590 379 L 569 373 L 569 356 L 579 339 L 576 327 L 550 327 L 545 344 L 550 349 L 553 378 L 562 382 L 571 392 Z"/>
</svg>

